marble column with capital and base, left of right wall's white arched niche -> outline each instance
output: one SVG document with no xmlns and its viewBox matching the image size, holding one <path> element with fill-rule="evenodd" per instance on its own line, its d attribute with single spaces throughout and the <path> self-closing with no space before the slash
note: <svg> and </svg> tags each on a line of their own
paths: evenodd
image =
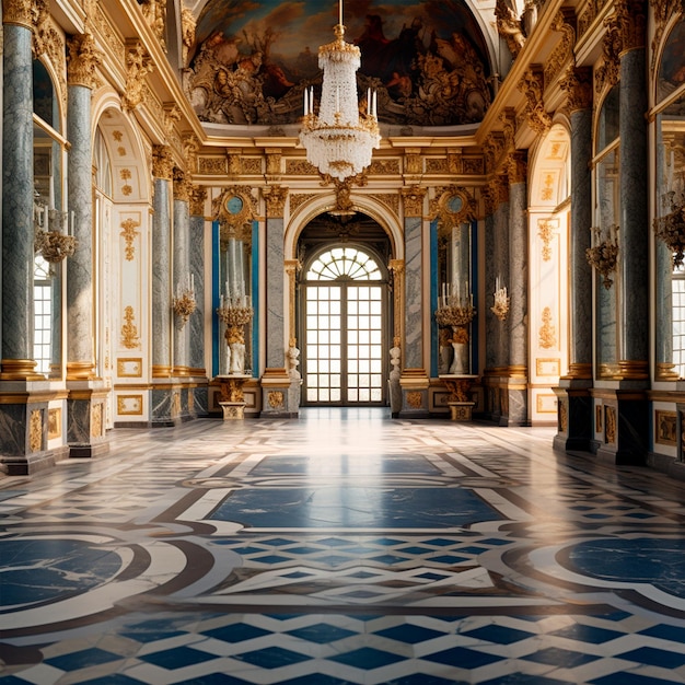
<svg viewBox="0 0 685 685">
<path fill-rule="evenodd" d="M 529 241 L 527 241 L 527 155 L 516 151 L 509 156 L 509 426 L 529 423 Z"/>
</svg>

